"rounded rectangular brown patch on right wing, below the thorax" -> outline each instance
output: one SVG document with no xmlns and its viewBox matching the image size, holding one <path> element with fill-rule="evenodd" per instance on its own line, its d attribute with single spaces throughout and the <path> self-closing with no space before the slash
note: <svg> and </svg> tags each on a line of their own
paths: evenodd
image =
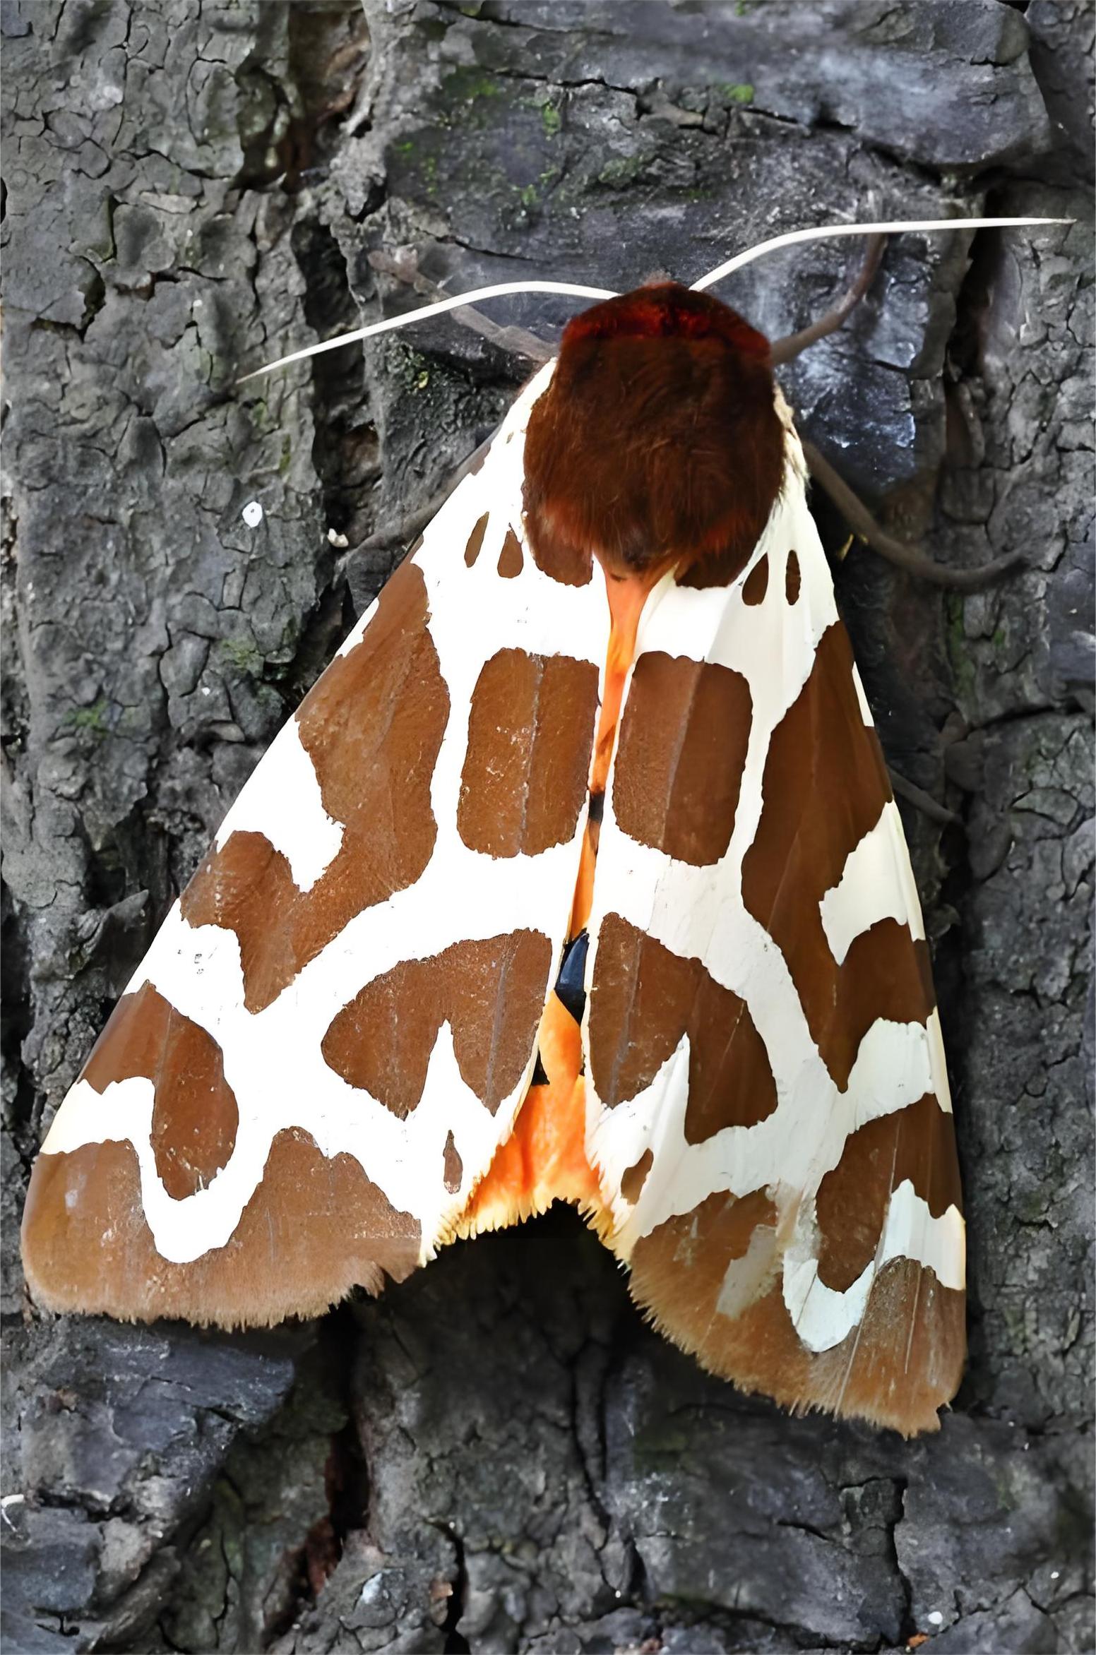
<svg viewBox="0 0 1096 1655">
<path fill-rule="evenodd" d="M 750 685 L 730 667 L 641 655 L 613 773 L 619 828 L 694 867 L 719 862 L 735 826 L 750 715 Z"/>
</svg>

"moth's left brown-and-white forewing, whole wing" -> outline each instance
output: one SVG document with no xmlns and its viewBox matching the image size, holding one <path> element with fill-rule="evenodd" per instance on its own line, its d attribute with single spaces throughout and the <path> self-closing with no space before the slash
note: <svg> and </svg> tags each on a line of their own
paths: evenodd
<svg viewBox="0 0 1096 1655">
<path fill-rule="evenodd" d="M 33 1170 L 58 1309 L 311 1314 L 452 1230 L 528 1087 L 608 636 L 522 531 L 541 372 L 281 730 Z"/>
</svg>

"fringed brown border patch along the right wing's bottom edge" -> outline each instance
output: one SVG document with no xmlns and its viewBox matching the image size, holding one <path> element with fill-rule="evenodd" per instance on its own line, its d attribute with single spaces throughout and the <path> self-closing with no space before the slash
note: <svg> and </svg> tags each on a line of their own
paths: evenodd
<svg viewBox="0 0 1096 1655">
<path fill-rule="evenodd" d="M 765 1231 L 773 1225 L 775 1210 L 760 1190 L 740 1200 L 710 1195 L 636 1243 L 632 1298 L 662 1332 L 742 1390 L 760 1390 L 795 1412 L 864 1418 L 904 1437 L 937 1430 L 937 1410 L 954 1397 L 965 1360 L 964 1294 L 942 1288 L 912 1259 L 892 1259 L 872 1284 L 859 1327 L 831 1350 L 808 1350 L 780 1276 L 773 1281 L 763 1268 L 772 1248 Z M 758 1268 L 750 1279 L 760 1291 L 748 1299 L 735 1266 L 747 1266 L 752 1250 Z M 720 1312 L 720 1298 L 742 1304 L 738 1314 Z"/>
</svg>

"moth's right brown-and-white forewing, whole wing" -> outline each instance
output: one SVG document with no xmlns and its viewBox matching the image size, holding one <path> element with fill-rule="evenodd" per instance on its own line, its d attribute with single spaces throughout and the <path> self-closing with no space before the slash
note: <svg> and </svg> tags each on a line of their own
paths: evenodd
<svg viewBox="0 0 1096 1655">
<path fill-rule="evenodd" d="M 934 1428 L 965 1352 L 947 1074 L 791 432 L 743 578 L 644 614 L 594 907 L 588 1135 L 636 1299 L 743 1389 Z"/>
</svg>

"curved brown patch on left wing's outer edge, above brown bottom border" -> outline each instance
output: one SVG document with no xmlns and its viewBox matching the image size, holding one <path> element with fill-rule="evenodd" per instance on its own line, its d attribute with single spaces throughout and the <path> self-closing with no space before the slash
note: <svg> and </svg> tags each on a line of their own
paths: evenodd
<svg viewBox="0 0 1096 1655">
<path fill-rule="evenodd" d="M 123 995 L 83 1071 L 96 1092 L 136 1076 L 156 1086 L 156 1170 L 180 1202 L 212 1183 L 228 1162 L 240 1112 L 217 1041 L 151 983 Z"/>
</svg>

